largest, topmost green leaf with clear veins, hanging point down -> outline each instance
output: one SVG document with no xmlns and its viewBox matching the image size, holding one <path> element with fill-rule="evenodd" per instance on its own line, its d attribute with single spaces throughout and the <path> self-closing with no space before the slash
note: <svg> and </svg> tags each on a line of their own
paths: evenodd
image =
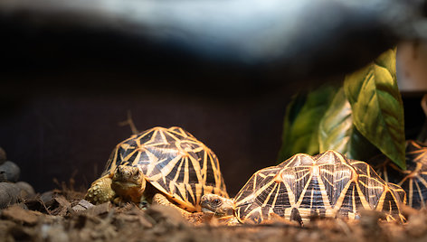
<svg viewBox="0 0 427 242">
<path fill-rule="evenodd" d="M 403 102 L 395 77 L 395 51 L 386 51 L 346 76 L 344 90 L 357 130 L 405 169 Z"/>
</svg>

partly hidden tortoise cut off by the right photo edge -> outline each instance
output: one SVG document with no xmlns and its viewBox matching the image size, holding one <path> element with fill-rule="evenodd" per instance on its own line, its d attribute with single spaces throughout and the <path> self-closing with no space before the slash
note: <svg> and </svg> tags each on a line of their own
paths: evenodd
<svg viewBox="0 0 427 242">
<path fill-rule="evenodd" d="M 375 170 L 384 181 L 402 186 L 407 193 L 406 204 L 414 209 L 422 209 L 427 203 L 427 145 L 418 141 L 406 141 L 406 167 L 403 171 L 385 158 L 375 157 Z"/>
</svg>

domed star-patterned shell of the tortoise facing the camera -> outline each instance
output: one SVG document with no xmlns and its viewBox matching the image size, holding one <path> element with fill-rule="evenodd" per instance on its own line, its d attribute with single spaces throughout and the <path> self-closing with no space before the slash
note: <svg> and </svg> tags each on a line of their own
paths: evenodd
<svg viewBox="0 0 427 242">
<path fill-rule="evenodd" d="M 180 127 L 154 127 L 116 146 L 103 175 L 119 165 L 138 166 L 158 191 L 188 211 L 200 211 L 200 199 L 228 197 L 218 158 Z"/>
</svg>

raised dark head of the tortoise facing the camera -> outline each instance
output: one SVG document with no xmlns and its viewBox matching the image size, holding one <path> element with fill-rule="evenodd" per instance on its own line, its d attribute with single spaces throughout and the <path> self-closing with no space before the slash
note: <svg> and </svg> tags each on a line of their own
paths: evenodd
<svg viewBox="0 0 427 242">
<path fill-rule="evenodd" d="M 126 200 L 139 202 L 146 189 L 146 182 L 138 167 L 119 165 L 112 177 L 111 189 Z"/>
</svg>

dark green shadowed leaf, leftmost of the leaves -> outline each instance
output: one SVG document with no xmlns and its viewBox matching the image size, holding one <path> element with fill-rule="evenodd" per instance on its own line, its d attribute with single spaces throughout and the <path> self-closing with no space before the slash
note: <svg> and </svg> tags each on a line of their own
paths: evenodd
<svg viewBox="0 0 427 242">
<path fill-rule="evenodd" d="M 325 86 L 293 97 L 283 122 L 279 162 L 294 154 L 318 154 L 318 123 L 336 90 L 336 87 Z"/>
</svg>

